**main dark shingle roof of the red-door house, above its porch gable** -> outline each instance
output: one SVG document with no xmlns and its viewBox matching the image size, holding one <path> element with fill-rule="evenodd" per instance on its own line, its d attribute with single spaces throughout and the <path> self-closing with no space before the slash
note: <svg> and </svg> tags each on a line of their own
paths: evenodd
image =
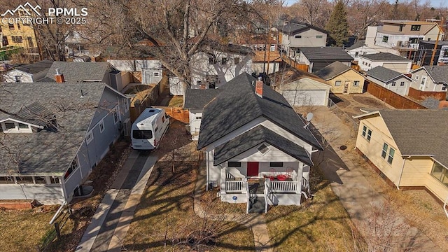
<svg viewBox="0 0 448 252">
<path fill-rule="evenodd" d="M 290 107 L 283 95 L 263 85 L 263 97 L 255 94 L 256 78 L 248 73 L 226 83 L 216 99 L 204 108 L 197 149 L 221 139 L 246 123 L 259 117 L 275 123 L 311 146 L 322 149 L 304 121 Z"/>
</svg>

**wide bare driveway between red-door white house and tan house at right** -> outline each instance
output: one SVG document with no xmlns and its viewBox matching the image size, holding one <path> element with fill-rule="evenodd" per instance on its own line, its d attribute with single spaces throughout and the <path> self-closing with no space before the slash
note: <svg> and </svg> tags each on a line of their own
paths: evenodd
<svg viewBox="0 0 448 252">
<path fill-rule="evenodd" d="M 314 153 L 313 160 L 332 182 L 332 190 L 364 237 L 369 251 L 384 251 L 384 248 L 388 251 L 442 251 L 426 235 L 408 225 L 404 217 L 388 208 L 387 200 L 362 174 L 363 168 L 353 164 L 351 158 L 357 155 L 353 149 L 339 149 L 349 143 L 349 127 L 326 107 L 314 112 L 312 123 L 321 129 L 319 132 L 330 144 L 323 155 Z"/>
</svg>

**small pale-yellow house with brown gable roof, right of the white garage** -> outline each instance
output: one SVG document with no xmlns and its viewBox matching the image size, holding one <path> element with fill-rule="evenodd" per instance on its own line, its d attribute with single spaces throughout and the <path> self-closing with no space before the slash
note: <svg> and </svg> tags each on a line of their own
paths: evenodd
<svg viewBox="0 0 448 252">
<path fill-rule="evenodd" d="M 325 80 L 334 94 L 360 94 L 363 92 L 364 76 L 350 66 L 333 62 L 314 74 Z"/>
</svg>

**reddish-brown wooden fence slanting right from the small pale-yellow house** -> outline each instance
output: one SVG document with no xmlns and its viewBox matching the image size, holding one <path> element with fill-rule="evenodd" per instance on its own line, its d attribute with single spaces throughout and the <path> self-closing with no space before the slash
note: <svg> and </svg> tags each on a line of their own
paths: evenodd
<svg viewBox="0 0 448 252">
<path fill-rule="evenodd" d="M 393 106 L 395 109 L 427 109 L 425 106 L 369 80 L 365 80 L 365 85 L 367 85 L 367 92 L 381 101 L 386 102 L 386 104 Z"/>
</svg>

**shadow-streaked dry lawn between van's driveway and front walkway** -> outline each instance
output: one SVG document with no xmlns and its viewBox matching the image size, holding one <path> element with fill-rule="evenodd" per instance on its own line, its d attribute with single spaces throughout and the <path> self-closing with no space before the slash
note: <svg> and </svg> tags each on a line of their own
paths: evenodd
<svg viewBox="0 0 448 252">
<path fill-rule="evenodd" d="M 187 250 L 229 248 L 251 251 L 253 245 L 233 244 L 221 239 L 247 228 L 221 220 L 207 220 L 193 210 L 197 162 L 157 162 L 141 198 L 125 247 L 131 250 Z M 132 231 L 135 230 L 135 231 Z M 252 237 L 253 239 L 253 237 Z M 213 240 L 213 242 L 211 242 Z M 203 249 L 204 248 L 204 249 Z"/>
</svg>

